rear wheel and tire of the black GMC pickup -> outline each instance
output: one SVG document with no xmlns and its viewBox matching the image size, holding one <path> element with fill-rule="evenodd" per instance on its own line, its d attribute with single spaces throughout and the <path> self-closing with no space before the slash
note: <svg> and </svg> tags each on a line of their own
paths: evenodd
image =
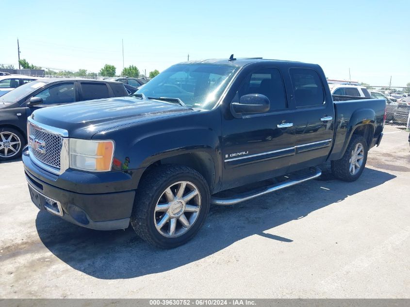
<svg viewBox="0 0 410 307">
<path fill-rule="evenodd" d="M 334 177 L 344 181 L 355 181 L 364 170 L 367 161 L 367 142 L 359 134 L 353 134 L 341 159 L 332 161 Z"/>
</svg>

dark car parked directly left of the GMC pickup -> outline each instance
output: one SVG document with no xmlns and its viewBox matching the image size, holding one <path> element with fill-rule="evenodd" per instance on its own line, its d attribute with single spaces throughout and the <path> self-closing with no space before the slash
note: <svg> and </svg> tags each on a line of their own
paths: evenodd
<svg viewBox="0 0 410 307">
<path fill-rule="evenodd" d="M 21 155 L 27 143 L 27 117 L 35 110 L 76 101 L 128 96 L 120 82 L 42 79 L 0 97 L 0 160 Z"/>
</svg>

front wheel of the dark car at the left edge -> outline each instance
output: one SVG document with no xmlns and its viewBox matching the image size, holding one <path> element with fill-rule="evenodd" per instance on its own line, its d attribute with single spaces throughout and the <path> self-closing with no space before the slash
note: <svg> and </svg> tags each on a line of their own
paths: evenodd
<svg viewBox="0 0 410 307">
<path fill-rule="evenodd" d="M 0 128 L 0 160 L 7 161 L 21 156 L 24 137 L 16 129 Z"/>
</svg>

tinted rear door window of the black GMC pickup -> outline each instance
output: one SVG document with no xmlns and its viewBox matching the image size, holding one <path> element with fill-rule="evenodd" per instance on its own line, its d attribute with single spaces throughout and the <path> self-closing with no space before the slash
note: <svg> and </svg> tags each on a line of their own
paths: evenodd
<svg viewBox="0 0 410 307">
<path fill-rule="evenodd" d="M 311 68 L 290 68 L 296 108 L 321 106 L 325 92 L 319 74 Z"/>
</svg>

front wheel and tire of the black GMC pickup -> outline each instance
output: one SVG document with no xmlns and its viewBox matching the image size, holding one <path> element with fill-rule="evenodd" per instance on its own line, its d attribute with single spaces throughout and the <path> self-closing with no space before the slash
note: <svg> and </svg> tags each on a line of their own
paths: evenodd
<svg viewBox="0 0 410 307">
<path fill-rule="evenodd" d="M 148 243 L 175 248 L 203 225 L 210 207 L 208 184 L 186 166 L 167 164 L 148 172 L 135 195 L 131 226 Z"/>
</svg>

